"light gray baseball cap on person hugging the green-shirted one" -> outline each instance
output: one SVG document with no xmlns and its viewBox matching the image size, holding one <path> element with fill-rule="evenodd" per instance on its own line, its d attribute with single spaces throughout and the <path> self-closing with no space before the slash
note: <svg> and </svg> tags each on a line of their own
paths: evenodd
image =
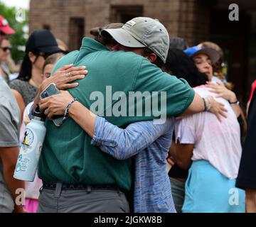
<svg viewBox="0 0 256 227">
<path fill-rule="evenodd" d="M 137 17 L 122 28 L 103 29 L 101 34 L 109 33 L 117 43 L 129 48 L 149 48 L 163 62 L 169 50 L 169 34 L 166 28 L 156 19 Z"/>
</svg>

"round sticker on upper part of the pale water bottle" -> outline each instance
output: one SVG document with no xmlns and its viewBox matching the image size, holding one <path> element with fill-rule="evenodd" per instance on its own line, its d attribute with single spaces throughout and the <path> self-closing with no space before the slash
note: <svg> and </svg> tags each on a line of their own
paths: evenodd
<svg viewBox="0 0 256 227">
<path fill-rule="evenodd" d="M 30 128 L 26 128 L 24 138 L 21 144 L 21 154 L 26 155 L 31 153 L 33 149 L 36 147 L 36 143 L 36 133 L 33 133 L 33 131 Z"/>
</svg>

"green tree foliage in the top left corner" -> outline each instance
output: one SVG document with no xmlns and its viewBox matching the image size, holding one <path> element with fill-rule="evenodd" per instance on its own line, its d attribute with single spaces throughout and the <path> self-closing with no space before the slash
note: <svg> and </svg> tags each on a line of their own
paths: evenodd
<svg viewBox="0 0 256 227">
<path fill-rule="evenodd" d="M 9 35 L 9 40 L 11 41 L 11 56 L 14 60 L 21 60 L 24 56 L 24 51 L 21 50 L 21 47 L 26 45 L 26 33 L 23 31 L 25 26 L 28 26 L 28 11 L 25 12 L 25 20 L 17 21 L 16 14 L 19 9 L 15 7 L 6 6 L 4 3 L 0 2 L 0 15 L 4 16 L 6 20 L 9 22 L 9 26 L 14 28 L 15 34 Z"/>
</svg>

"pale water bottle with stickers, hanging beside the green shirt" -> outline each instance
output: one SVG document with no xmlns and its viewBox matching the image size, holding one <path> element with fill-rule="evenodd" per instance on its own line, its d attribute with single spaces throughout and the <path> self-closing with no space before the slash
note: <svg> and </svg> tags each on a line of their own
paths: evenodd
<svg viewBox="0 0 256 227">
<path fill-rule="evenodd" d="M 46 116 L 36 108 L 31 122 L 28 123 L 25 129 L 14 170 L 14 178 L 33 182 L 43 147 L 43 140 L 46 136 L 45 120 Z"/>
</svg>

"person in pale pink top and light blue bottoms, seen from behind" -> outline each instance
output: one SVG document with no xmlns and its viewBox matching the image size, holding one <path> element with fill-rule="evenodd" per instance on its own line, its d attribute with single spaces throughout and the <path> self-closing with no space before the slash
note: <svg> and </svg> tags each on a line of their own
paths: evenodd
<svg viewBox="0 0 256 227">
<path fill-rule="evenodd" d="M 207 52 L 201 53 L 208 56 L 207 61 L 212 60 Z M 176 52 L 176 57 L 187 57 L 188 64 L 193 64 L 192 58 L 182 53 Z M 175 123 L 176 144 L 170 149 L 171 156 L 184 170 L 189 169 L 182 211 L 245 212 L 245 192 L 235 187 L 242 148 L 240 126 L 232 106 L 206 87 L 206 74 L 175 74 L 186 79 L 201 97 L 213 96 L 228 110 L 227 118 L 221 117 L 221 122 L 212 114 L 201 112 Z M 206 105 L 210 108 L 207 101 Z"/>
</svg>

